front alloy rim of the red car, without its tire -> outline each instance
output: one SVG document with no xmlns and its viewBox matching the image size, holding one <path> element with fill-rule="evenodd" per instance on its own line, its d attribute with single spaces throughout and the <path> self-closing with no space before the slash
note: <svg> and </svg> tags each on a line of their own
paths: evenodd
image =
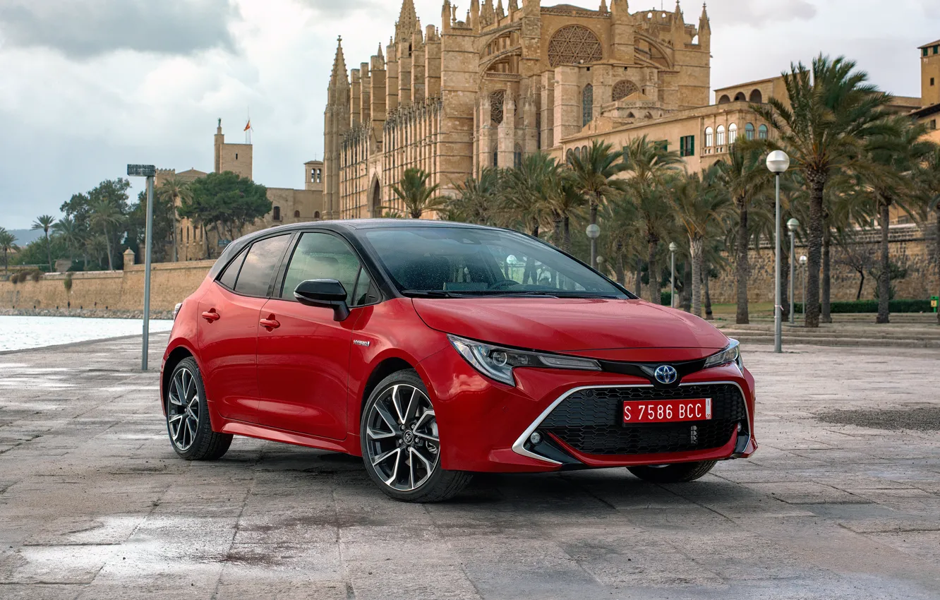
<svg viewBox="0 0 940 600">
<path fill-rule="evenodd" d="M 369 410 L 369 463 L 385 485 L 410 492 L 428 481 L 440 460 L 434 407 L 417 387 L 388 387 Z"/>
</svg>

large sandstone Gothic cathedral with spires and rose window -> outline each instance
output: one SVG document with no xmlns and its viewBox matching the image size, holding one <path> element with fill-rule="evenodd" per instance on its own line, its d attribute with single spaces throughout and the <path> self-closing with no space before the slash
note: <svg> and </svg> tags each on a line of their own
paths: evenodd
<svg viewBox="0 0 940 600">
<path fill-rule="evenodd" d="M 409 167 L 447 193 L 484 167 L 514 166 L 537 150 L 561 158 L 579 136 L 707 106 L 710 46 L 705 9 L 686 24 L 678 2 L 672 11 L 631 12 L 628 0 L 601 0 L 597 10 L 471 0 L 459 20 L 445 0 L 436 27 L 422 26 L 404 0 L 394 36 L 368 62 L 347 71 L 337 47 L 325 111 L 325 216 L 398 208 L 391 185 Z"/>
</svg>

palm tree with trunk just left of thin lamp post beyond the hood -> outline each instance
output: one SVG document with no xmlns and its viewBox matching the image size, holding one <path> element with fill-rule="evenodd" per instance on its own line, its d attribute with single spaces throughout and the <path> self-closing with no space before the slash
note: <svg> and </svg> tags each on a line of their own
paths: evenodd
<svg viewBox="0 0 940 600">
<path fill-rule="evenodd" d="M 679 152 L 666 150 L 646 135 L 630 140 L 623 149 L 623 171 L 630 177 L 622 182 L 623 189 L 633 198 L 637 211 L 646 226 L 646 242 L 650 272 L 650 302 L 660 304 L 660 276 L 656 264 L 656 250 L 662 231 L 671 223 L 668 194 L 662 187 L 683 165 Z"/>
</svg>

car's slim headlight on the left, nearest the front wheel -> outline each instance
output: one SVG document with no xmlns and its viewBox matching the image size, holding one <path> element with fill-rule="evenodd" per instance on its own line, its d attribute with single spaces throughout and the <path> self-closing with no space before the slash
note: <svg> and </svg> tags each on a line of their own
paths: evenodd
<svg viewBox="0 0 940 600">
<path fill-rule="evenodd" d="M 474 369 L 509 386 L 516 385 L 516 380 L 512 376 L 512 370 L 515 367 L 601 371 L 601 365 L 591 358 L 526 352 L 457 336 L 448 335 L 447 339 L 450 339 L 454 349 L 461 353 Z"/>
</svg>

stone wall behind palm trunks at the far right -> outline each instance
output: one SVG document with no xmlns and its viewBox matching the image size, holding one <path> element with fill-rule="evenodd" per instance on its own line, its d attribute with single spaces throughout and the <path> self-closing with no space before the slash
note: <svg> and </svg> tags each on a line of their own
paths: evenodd
<svg viewBox="0 0 940 600">
<path fill-rule="evenodd" d="M 932 227 L 935 227 L 932 225 Z M 909 229 L 905 231 L 904 229 Z M 875 235 L 870 235 L 863 243 L 857 245 L 857 249 L 870 253 L 873 260 L 877 261 L 880 256 L 881 247 L 875 241 Z M 940 281 L 938 281 L 936 263 L 933 261 L 935 252 L 935 243 L 929 235 L 924 235 L 917 226 L 909 228 L 892 228 L 892 242 L 889 244 L 890 259 L 902 268 L 907 269 L 907 276 L 893 282 L 896 289 L 895 297 L 898 299 L 927 299 L 936 295 L 940 291 Z M 787 240 L 786 251 L 789 252 L 789 238 Z M 796 256 L 807 254 L 805 246 L 796 246 Z M 751 275 L 748 279 L 747 296 L 750 302 L 773 302 L 774 301 L 774 249 L 769 245 L 762 247 L 760 251 L 751 250 L 750 253 Z M 832 248 L 832 288 L 831 298 L 833 301 L 854 300 L 858 292 L 858 284 L 861 277 L 851 266 L 848 266 L 843 259 L 844 252 L 838 246 Z M 789 263 L 783 264 L 784 269 L 789 269 Z M 875 297 L 875 288 L 877 282 L 874 277 L 868 273 L 865 276 L 865 285 L 862 288 L 862 300 L 870 300 Z M 712 293 L 712 302 L 715 304 L 734 304 L 737 298 L 737 288 L 734 278 L 733 257 L 730 259 L 728 268 L 717 279 L 710 282 Z M 784 294 L 784 298 L 789 296 Z M 796 270 L 796 301 L 799 302 L 803 297 L 803 270 L 797 263 Z"/>
</svg>

